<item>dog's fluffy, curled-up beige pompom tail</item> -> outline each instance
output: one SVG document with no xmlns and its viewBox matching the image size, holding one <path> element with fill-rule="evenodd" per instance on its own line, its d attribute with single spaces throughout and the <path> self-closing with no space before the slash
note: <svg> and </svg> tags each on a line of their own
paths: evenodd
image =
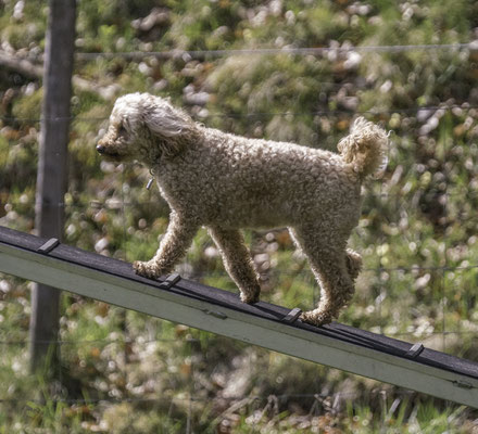
<svg viewBox="0 0 478 434">
<path fill-rule="evenodd" d="M 338 150 L 345 163 L 352 165 L 361 178 L 377 175 L 388 163 L 388 136 L 379 126 L 358 117 L 350 135 L 340 140 Z"/>
</svg>

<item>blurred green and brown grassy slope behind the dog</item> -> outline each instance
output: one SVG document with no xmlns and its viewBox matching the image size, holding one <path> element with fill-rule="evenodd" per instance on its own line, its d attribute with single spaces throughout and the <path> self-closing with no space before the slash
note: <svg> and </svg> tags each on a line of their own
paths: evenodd
<svg viewBox="0 0 478 434">
<path fill-rule="evenodd" d="M 0 0 L 0 50 L 40 62 L 46 17 L 46 1 Z M 72 99 L 66 242 L 130 261 L 149 258 L 166 228 L 148 171 L 96 155 L 120 94 L 169 95 L 207 126 L 329 150 L 364 113 L 392 145 L 364 191 L 351 245 L 365 270 L 340 321 L 478 360 L 478 51 L 180 52 L 477 40 L 471 0 L 78 0 L 77 52 L 117 55 L 77 58 L 75 75 L 97 87 Z M 122 54 L 164 50 L 178 51 Z M 0 68 L 0 225 L 24 231 L 41 95 L 40 80 Z M 287 232 L 248 241 L 263 299 L 311 308 L 318 289 Z M 236 291 L 205 231 L 179 270 Z M 74 295 L 62 311 L 61 384 L 49 384 L 26 374 L 29 283 L 0 277 L 0 433 L 477 430 L 471 409 L 137 312 Z"/>
</svg>

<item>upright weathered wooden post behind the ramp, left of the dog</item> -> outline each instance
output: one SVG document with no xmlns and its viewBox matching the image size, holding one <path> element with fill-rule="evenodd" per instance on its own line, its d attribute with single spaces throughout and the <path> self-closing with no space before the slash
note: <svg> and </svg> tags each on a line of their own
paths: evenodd
<svg viewBox="0 0 478 434">
<path fill-rule="evenodd" d="M 40 125 L 35 226 L 40 237 L 63 237 L 76 0 L 50 0 Z M 30 369 L 58 366 L 60 291 L 36 284 L 32 294 Z M 50 359 L 51 356 L 51 359 Z M 54 369 L 51 370 L 54 372 Z"/>
</svg>

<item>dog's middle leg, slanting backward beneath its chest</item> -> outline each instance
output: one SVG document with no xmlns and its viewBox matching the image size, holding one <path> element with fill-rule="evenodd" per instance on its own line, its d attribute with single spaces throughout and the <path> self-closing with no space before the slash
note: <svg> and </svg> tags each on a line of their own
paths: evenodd
<svg viewBox="0 0 478 434">
<path fill-rule="evenodd" d="M 209 232 L 219 248 L 226 271 L 239 288 L 241 301 L 249 304 L 259 302 L 259 276 L 241 232 L 219 227 L 210 227 Z"/>
</svg>

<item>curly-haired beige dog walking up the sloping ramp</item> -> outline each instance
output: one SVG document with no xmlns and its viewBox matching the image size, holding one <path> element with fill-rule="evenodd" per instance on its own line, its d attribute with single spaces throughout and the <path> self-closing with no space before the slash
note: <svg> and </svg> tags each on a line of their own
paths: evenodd
<svg viewBox="0 0 478 434">
<path fill-rule="evenodd" d="M 240 229 L 288 227 L 322 288 L 317 308 L 301 319 L 319 326 L 354 293 L 362 260 L 347 240 L 358 221 L 361 184 L 382 165 L 387 145 L 386 132 L 363 118 L 336 154 L 205 128 L 165 99 L 131 93 L 116 101 L 97 150 L 148 166 L 171 206 L 156 254 L 134 263 L 138 275 L 169 273 L 205 226 L 241 299 L 255 303 L 257 272 Z"/>
</svg>

